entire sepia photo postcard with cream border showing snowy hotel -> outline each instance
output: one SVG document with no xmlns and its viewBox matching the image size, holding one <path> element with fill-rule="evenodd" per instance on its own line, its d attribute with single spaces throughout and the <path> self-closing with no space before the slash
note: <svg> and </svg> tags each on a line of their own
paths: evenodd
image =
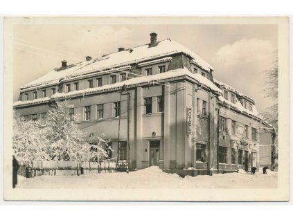
<svg viewBox="0 0 293 220">
<path fill-rule="evenodd" d="M 4 199 L 288 201 L 288 23 L 6 17 Z"/>
</svg>

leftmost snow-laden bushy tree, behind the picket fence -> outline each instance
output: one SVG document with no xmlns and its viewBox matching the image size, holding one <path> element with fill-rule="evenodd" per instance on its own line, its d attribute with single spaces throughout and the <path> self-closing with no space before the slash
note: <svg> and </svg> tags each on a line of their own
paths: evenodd
<svg viewBox="0 0 293 220">
<path fill-rule="evenodd" d="M 46 130 L 42 121 L 25 120 L 15 114 L 12 148 L 19 161 L 48 160 Z"/>
</svg>

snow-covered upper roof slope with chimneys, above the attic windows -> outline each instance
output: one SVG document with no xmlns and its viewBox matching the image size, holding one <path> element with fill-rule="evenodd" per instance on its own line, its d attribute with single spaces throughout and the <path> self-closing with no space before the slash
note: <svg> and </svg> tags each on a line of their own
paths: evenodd
<svg viewBox="0 0 293 220">
<path fill-rule="evenodd" d="M 107 68 L 116 68 L 118 66 L 125 66 L 143 61 L 146 62 L 150 59 L 166 57 L 175 53 L 185 53 L 186 55 L 190 55 L 190 57 L 193 58 L 193 61 L 199 66 L 202 66 L 206 71 L 213 70 L 213 67 L 210 64 L 205 62 L 204 59 L 199 57 L 193 51 L 190 51 L 188 48 L 173 40 L 166 39 L 158 42 L 157 46 L 149 46 L 149 44 L 145 44 L 124 51 L 103 55 L 102 57 L 91 59 L 89 61 L 72 64 L 66 68 L 55 68 L 53 71 L 46 73 L 46 75 L 39 77 L 37 80 L 33 80 L 32 82 L 21 86 L 21 89 L 30 86 L 37 86 L 45 82 L 53 82 L 54 80 L 60 80 L 69 77 L 70 75 L 82 75 Z"/>
</svg>

